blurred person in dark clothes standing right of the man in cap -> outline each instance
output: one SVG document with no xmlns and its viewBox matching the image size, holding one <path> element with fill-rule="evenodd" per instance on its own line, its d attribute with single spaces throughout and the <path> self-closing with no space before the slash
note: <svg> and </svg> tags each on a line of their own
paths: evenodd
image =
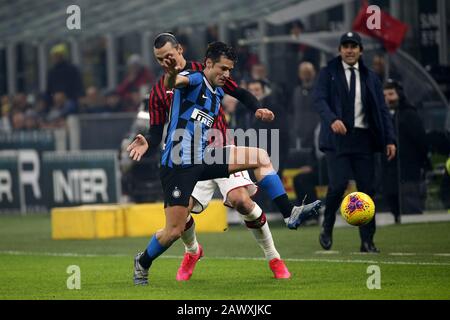
<svg viewBox="0 0 450 320">
<path fill-rule="evenodd" d="M 398 156 L 383 161 L 383 190 L 395 222 L 400 223 L 401 214 L 422 213 L 425 206 L 427 136 L 417 109 L 407 101 L 400 83 L 388 80 L 384 97 L 398 137 Z"/>
</svg>

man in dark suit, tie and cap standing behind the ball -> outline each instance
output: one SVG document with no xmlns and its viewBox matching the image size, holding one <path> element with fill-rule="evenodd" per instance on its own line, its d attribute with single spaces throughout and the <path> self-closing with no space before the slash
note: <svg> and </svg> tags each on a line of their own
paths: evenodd
<svg viewBox="0 0 450 320">
<path fill-rule="evenodd" d="M 332 246 L 336 211 L 348 181 L 353 177 L 359 191 L 374 194 L 374 153 L 395 157 L 395 136 L 378 76 L 361 59 L 361 37 L 342 35 L 339 56 L 319 74 L 314 104 L 321 117 L 319 148 L 325 152 L 329 185 L 319 241 Z M 375 217 L 359 227 L 361 252 L 379 252 L 373 242 Z"/>
</svg>

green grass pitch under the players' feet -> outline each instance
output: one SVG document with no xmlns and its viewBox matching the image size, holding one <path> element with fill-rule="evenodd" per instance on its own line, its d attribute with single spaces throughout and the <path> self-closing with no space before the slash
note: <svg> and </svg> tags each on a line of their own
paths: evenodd
<svg viewBox="0 0 450 320">
<path fill-rule="evenodd" d="M 133 256 L 148 238 L 55 241 L 47 215 L 0 216 L 0 299 L 450 299 L 450 223 L 379 227 L 376 255 L 358 253 L 354 227 L 335 230 L 331 253 L 319 227 L 271 229 L 289 280 L 273 279 L 251 233 L 231 226 L 198 235 L 205 257 L 190 281 L 175 280 L 178 241 L 154 262 L 149 285 L 135 287 Z M 80 267 L 79 290 L 67 288 L 70 265 Z M 370 265 L 380 267 L 380 289 L 367 288 Z"/>
</svg>

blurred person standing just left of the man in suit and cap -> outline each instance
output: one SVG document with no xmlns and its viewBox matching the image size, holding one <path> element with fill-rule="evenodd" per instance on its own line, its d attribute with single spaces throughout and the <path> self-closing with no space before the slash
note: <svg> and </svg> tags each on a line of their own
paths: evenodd
<svg viewBox="0 0 450 320">
<path fill-rule="evenodd" d="M 320 117 L 314 108 L 312 90 L 316 79 L 316 70 L 310 62 L 302 62 L 298 66 L 299 85 L 295 87 L 290 104 L 290 127 L 292 146 L 312 148 L 314 130 Z"/>
</svg>

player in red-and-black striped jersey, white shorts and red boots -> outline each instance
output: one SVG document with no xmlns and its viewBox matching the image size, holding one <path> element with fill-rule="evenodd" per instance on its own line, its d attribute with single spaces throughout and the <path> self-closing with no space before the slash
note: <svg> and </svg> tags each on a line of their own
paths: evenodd
<svg viewBox="0 0 450 320">
<path fill-rule="evenodd" d="M 177 67 L 180 70 L 203 70 L 201 63 L 186 61 L 182 50 L 181 45 L 173 34 L 162 33 L 155 39 L 154 54 L 161 66 L 164 66 L 164 59 L 171 57 L 177 62 Z M 247 107 L 254 110 L 257 118 L 269 121 L 273 119 L 274 115 L 270 110 L 261 108 L 258 100 L 248 91 L 239 88 L 234 81 L 227 80 L 223 89 L 227 94 L 237 98 Z M 140 160 L 149 145 L 157 147 L 160 144 L 171 103 L 172 91 L 166 90 L 164 87 L 163 76 L 150 93 L 149 113 L 151 128 L 149 134 L 146 137 L 138 135 L 128 147 L 130 157 L 134 160 Z M 224 139 L 222 146 L 227 145 L 227 123 L 222 108 L 220 108 L 218 120 L 215 121 L 213 128 L 222 132 Z M 224 204 L 236 208 L 249 230 L 254 234 L 257 243 L 261 246 L 269 261 L 269 266 L 275 278 L 289 278 L 290 273 L 275 249 L 266 217 L 261 208 L 250 199 L 250 196 L 256 192 L 257 188 L 246 171 L 232 174 L 229 178 L 198 182 L 191 196 L 189 210 L 193 213 L 203 211 L 211 200 L 217 186 L 224 196 Z M 196 240 L 195 224 L 191 216 L 188 217 L 188 222 L 181 238 L 186 247 L 186 254 L 177 273 L 176 278 L 179 281 L 189 280 L 196 262 L 203 256 L 202 247 Z"/>
</svg>

